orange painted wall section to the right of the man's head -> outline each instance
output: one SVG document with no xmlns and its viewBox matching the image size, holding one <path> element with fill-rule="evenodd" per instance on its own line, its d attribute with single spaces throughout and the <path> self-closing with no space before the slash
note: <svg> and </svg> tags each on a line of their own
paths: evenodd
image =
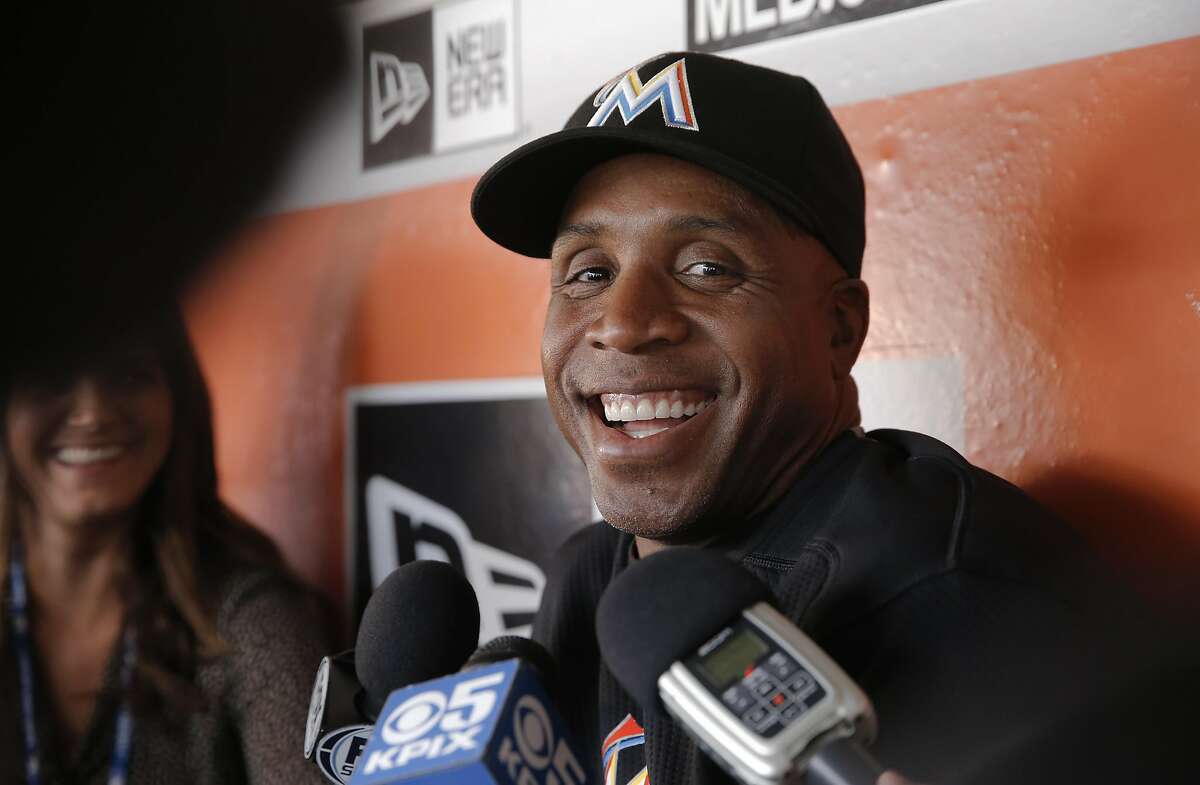
<svg viewBox="0 0 1200 785">
<path fill-rule="evenodd" d="M 1200 40 L 839 119 L 869 184 L 868 350 L 961 358 L 971 460 L 1140 582 L 1187 579 L 1200 541 Z"/>
</svg>

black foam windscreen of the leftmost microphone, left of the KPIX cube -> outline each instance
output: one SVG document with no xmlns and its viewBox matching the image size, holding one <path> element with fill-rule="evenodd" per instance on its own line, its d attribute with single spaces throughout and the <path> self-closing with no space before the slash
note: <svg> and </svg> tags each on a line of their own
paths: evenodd
<svg viewBox="0 0 1200 785">
<path fill-rule="evenodd" d="M 444 562 L 409 562 L 367 600 L 354 670 L 372 702 L 401 687 L 458 670 L 479 643 L 479 600 Z"/>
</svg>

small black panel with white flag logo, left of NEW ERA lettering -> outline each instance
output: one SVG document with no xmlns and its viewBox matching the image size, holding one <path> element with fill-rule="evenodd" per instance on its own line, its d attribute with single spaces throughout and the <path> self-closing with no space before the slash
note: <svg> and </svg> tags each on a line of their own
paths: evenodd
<svg viewBox="0 0 1200 785">
<path fill-rule="evenodd" d="M 433 151 L 433 13 L 362 29 L 362 168 Z"/>
</svg>

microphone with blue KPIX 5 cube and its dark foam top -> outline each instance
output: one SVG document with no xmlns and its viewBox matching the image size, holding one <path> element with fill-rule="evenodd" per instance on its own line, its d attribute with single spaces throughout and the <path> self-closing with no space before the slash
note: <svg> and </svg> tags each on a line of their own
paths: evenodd
<svg viewBox="0 0 1200 785">
<path fill-rule="evenodd" d="M 349 785 L 587 785 L 545 688 L 554 673 L 541 646 L 504 636 L 461 672 L 396 690 Z"/>
</svg>

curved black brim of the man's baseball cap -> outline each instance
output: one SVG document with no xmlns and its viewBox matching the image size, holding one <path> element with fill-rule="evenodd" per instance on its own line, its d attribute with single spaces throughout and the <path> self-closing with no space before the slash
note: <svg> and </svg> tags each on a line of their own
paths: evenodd
<svg viewBox="0 0 1200 785">
<path fill-rule="evenodd" d="M 522 256 L 550 258 L 566 198 L 593 167 L 631 152 L 661 152 L 727 176 L 798 221 L 811 216 L 775 182 L 709 146 L 630 127 L 566 128 L 524 144 L 484 173 L 470 214 L 484 234 Z"/>
</svg>

